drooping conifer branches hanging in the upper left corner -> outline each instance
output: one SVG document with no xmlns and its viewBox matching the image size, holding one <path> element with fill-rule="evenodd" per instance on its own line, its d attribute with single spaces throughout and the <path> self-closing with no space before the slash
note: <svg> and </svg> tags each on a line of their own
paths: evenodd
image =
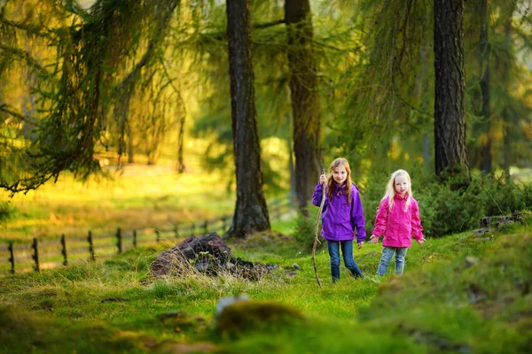
<svg viewBox="0 0 532 354">
<path fill-rule="evenodd" d="M 70 171 L 83 179 L 101 172 L 95 153 L 102 142 L 108 148 L 108 127 L 118 136 L 118 154 L 124 153 L 130 98 L 139 82 L 155 80 L 153 67 L 160 65 L 160 49 L 164 48 L 168 23 L 178 1 L 140 4 L 131 0 L 100 0 L 90 10 L 82 9 L 74 1 L 66 1 L 61 6 L 46 1 L 40 9 L 43 13 L 29 10 L 36 4 L 4 3 L 0 22 L 9 29 L 5 32 L 20 35 L 26 40 L 27 48 L 34 38 L 37 42 L 33 50 L 16 49 L 10 53 L 3 50 L 0 62 L 10 67 L 22 57 L 27 63 L 36 63 L 40 70 L 28 80 L 35 81 L 29 84 L 32 100 L 36 101 L 31 112 L 35 116 L 26 117 L 27 114 L 20 114 L 11 105 L 0 104 L 6 117 L 15 118 L 9 120 L 17 135 L 21 135 L 23 125 L 30 126 L 28 123 L 32 123 L 35 135 L 31 142 L 12 137 L 2 139 L 7 142 L 2 144 L 7 145 L 4 151 L 11 152 L 8 158 L 0 160 L 0 165 L 5 167 L 0 174 L 0 187 L 12 193 L 27 192 L 46 181 L 57 181 L 62 172 Z M 20 12 L 23 13 L 21 23 L 17 19 Z M 39 16 L 50 18 L 54 26 L 45 27 Z M 37 53 L 36 48 L 40 46 L 56 52 L 51 50 L 44 56 Z M 141 47 L 147 49 L 138 58 Z M 18 60 L 13 60 L 13 56 Z M 149 79 L 142 77 L 141 69 Z M 158 67 L 158 71 L 162 69 Z M 168 82 L 161 85 L 168 86 Z M 148 131 L 159 136 L 153 130 L 166 129 L 166 124 L 157 123 L 165 120 L 161 115 L 169 114 L 165 111 L 166 102 L 161 102 L 162 89 L 144 88 L 149 89 L 152 90 L 145 95 L 151 94 L 150 99 L 158 107 L 150 116 Z M 3 133 L 4 129 L 0 134 Z"/>
</svg>

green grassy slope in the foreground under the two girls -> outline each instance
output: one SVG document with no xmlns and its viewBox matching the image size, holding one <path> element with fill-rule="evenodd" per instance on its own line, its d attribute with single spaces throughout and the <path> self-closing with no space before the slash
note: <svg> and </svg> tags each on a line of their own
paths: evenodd
<svg viewBox="0 0 532 354">
<path fill-rule="evenodd" d="M 380 284 L 355 281 L 344 269 L 340 283 L 332 286 L 322 250 L 320 289 L 309 255 L 275 235 L 258 235 L 231 248 L 246 259 L 281 266 L 295 262 L 302 267 L 295 277 L 277 272 L 247 282 L 200 276 L 143 285 L 160 250 L 140 249 L 92 265 L 0 278 L 0 351 L 165 352 L 184 351 L 177 347 L 184 342 L 213 342 L 228 353 L 528 352 L 531 224 L 528 219 L 525 227 L 414 245 L 405 275 L 385 277 Z M 277 225 L 283 227 L 290 224 Z M 371 244 L 356 250 L 365 273 L 375 272 L 379 252 L 379 245 Z M 287 304 L 307 320 L 236 338 L 215 335 L 210 328 L 217 300 L 242 292 Z M 189 314 L 158 318 L 173 311 Z"/>
</svg>

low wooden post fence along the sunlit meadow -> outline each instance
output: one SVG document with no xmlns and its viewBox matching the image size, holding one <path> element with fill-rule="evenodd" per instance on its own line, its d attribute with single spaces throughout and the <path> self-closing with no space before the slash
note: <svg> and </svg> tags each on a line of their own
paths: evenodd
<svg viewBox="0 0 532 354">
<path fill-rule="evenodd" d="M 275 199 L 268 205 L 270 220 L 281 219 L 288 212 L 293 212 L 289 199 Z M 93 235 L 89 230 L 86 235 L 47 239 L 33 242 L 0 242 L 0 273 L 23 273 L 34 270 L 68 266 L 79 260 L 95 260 L 97 257 L 109 257 L 121 254 L 125 250 L 158 242 L 176 242 L 190 235 L 203 235 L 217 232 L 220 235 L 231 227 L 232 215 L 208 219 L 200 223 L 176 224 L 165 228 L 147 228 L 144 230 L 125 231 L 118 227 L 113 234 Z"/>
</svg>

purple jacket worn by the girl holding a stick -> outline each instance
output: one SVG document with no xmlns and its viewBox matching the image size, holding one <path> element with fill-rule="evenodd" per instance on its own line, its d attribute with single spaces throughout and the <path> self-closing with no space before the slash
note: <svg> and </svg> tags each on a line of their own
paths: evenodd
<svg viewBox="0 0 532 354">
<path fill-rule="evenodd" d="M 325 196 L 322 212 L 322 237 L 332 241 L 353 240 L 356 231 L 356 242 L 363 242 L 365 239 L 364 210 L 358 189 L 351 184 L 350 204 L 348 204 L 345 186 L 339 187 L 334 183 L 334 189 L 331 200 Z M 322 194 L 322 185 L 318 183 L 312 195 L 312 204 L 319 206 Z"/>
</svg>

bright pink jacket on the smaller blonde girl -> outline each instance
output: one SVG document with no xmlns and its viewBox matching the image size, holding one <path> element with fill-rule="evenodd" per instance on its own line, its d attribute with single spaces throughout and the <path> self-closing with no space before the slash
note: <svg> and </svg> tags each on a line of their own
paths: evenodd
<svg viewBox="0 0 532 354">
<path fill-rule="evenodd" d="M 408 195 L 407 195 L 408 196 Z M 375 218 L 375 228 L 372 235 L 384 235 L 383 246 L 387 247 L 411 247 L 413 236 L 416 240 L 423 238 L 423 227 L 419 219 L 418 201 L 411 198 L 408 210 L 404 211 L 406 196 L 398 194 L 394 196 L 392 211 L 388 208 L 388 199 L 382 199 Z"/>
</svg>

